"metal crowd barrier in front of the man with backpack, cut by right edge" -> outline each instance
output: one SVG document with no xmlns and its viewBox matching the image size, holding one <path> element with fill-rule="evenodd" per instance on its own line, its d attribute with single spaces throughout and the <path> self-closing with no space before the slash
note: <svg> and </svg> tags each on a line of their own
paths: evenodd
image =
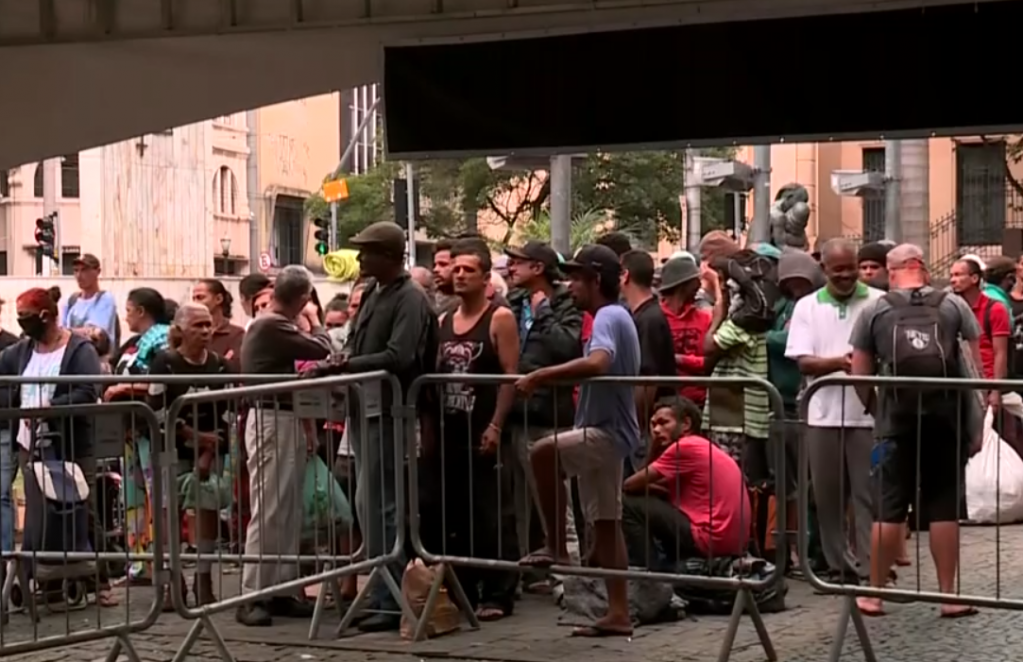
<svg viewBox="0 0 1023 662">
<path fill-rule="evenodd" d="M 969 459 L 969 447 L 974 441 L 975 437 L 964 438 L 964 429 L 967 429 L 970 435 L 976 435 L 980 431 L 977 429 L 978 424 L 983 421 L 984 411 L 987 408 L 986 402 L 982 399 L 980 393 L 985 391 L 1000 391 L 1003 398 L 1006 397 L 1006 392 L 1019 390 L 1023 386 L 1021 381 L 1013 380 L 982 380 L 982 379 L 908 379 L 908 378 L 894 378 L 894 377 L 851 377 L 851 376 L 833 376 L 825 377 L 812 382 L 807 388 L 806 392 L 803 394 L 800 406 L 802 410 L 802 418 L 806 421 L 806 415 L 809 410 L 810 398 L 820 391 L 821 389 L 828 387 L 869 387 L 875 389 L 875 393 L 879 401 L 885 398 L 885 395 L 893 395 L 895 389 L 900 389 L 900 393 L 903 394 L 903 400 L 915 399 L 916 404 L 913 405 L 910 402 L 910 408 L 915 409 L 916 414 L 913 415 L 914 421 L 909 422 L 909 427 L 914 428 L 914 432 L 909 435 L 900 434 L 895 437 L 895 441 L 892 442 L 896 446 L 899 440 L 903 440 L 902 443 L 909 443 L 915 447 L 915 457 L 913 458 L 913 465 L 915 471 L 914 481 L 915 484 L 911 486 L 913 499 L 909 504 L 910 514 L 908 517 L 907 526 L 911 530 L 914 524 L 917 524 L 918 533 L 914 535 L 916 538 L 916 555 L 914 555 L 913 562 L 916 564 L 916 586 L 913 589 L 897 588 L 893 586 L 870 586 L 861 585 L 860 581 L 855 579 L 847 581 L 847 578 L 839 574 L 838 581 L 832 581 L 831 578 L 822 578 L 811 566 L 807 563 L 810 556 L 810 539 L 809 539 L 809 521 L 808 514 L 810 507 L 810 489 L 813 488 L 810 467 L 808 461 L 808 443 L 809 441 L 804 438 L 800 443 L 800 460 L 799 460 L 799 535 L 798 535 L 798 548 L 799 558 L 803 562 L 802 571 L 810 583 L 810 585 L 818 592 L 831 595 L 842 597 L 842 608 L 839 614 L 839 622 L 836 626 L 835 637 L 832 642 L 832 648 L 830 652 L 829 659 L 832 662 L 838 662 L 842 655 L 842 648 L 845 642 L 845 637 L 848 631 L 849 621 L 852 621 L 853 627 L 855 628 L 857 638 L 859 641 L 860 647 L 863 652 L 863 656 L 868 662 L 876 662 L 877 656 L 875 655 L 874 648 L 871 644 L 870 634 L 868 632 L 866 624 L 864 622 L 864 614 L 860 611 L 860 607 L 857 605 L 857 599 L 880 599 L 883 601 L 889 601 L 891 603 L 930 603 L 930 604 L 941 604 L 944 606 L 962 606 L 971 608 L 990 608 L 990 609 L 1002 609 L 1002 610 L 1012 610 L 1020 611 L 1023 610 L 1023 599 L 1013 599 L 1006 598 L 1003 594 L 1002 587 L 1002 524 L 996 523 L 994 526 L 997 527 L 995 531 L 995 587 L 994 595 L 984 595 L 984 594 L 971 594 L 962 591 L 963 587 L 963 567 L 962 564 L 958 564 L 954 579 L 952 580 L 955 588 L 953 590 L 941 590 L 940 586 L 937 590 L 925 589 L 922 582 L 922 572 L 920 567 L 920 562 L 922 560 L 921 555 L 921 533 L 924 528 L 923 518 L 926 516 L 925 510 L 922 503 L 922 481 L 929 479 L 934 480 L 934 476 L 929 476 L 925 479 L 924 476 L 924 457 L 925 454 L 933 455 L 937 452 L 939 448 L 938 443 L 946 442 L 947 439 L 952 438 L 954 442 L 954 448 L 957 456 L 954 461 L 965 468 L 967 460 Z M 931 402 L 941 402 L 947 404 L 947 407 L 941 407 L 944 409 L 939 414 L 935 412 L 927 411 L 923 403 L 923 398 L 927 397 L 927 392 L 930 392 L 929 397 L 934 398 L 935 392 L 945 391 L 945 395 L 937 396 L 937 400 L 932 400 Z M 950 393 L 957 394 L 955 400 L 952 401 L 952 396 Z M 1005 401 L 1005 400 L 1004 400 Z M 933 405 L 932 405 L 933 406 Z M 902 405 L 900 405 L 900 410 Z M 860 409 L 862 411 L 862 409 Z M 843 407 L 843 422 L 846 420 L 846 412 Z M 998 415 L 998 414 L 996 414 Z M 979 416 L 979 418 L 978 418 Z M 936 423 L 935 423 L 936 422 Z M 940 426 L 938 434 L 947 433 L 946 438 L 939 438 L 935 434 L 934 426 Z M 958 428 L 958 430 L 957 430 Z M 850 435 L 848 428 L 837 429 L 840 431 L 841 440 L 840 445 L 843 449 L 840 452 L 844 452 L 844 447 L 846 445 L 846 436 Z M 872 522 L 871 526 L 873 528 L 875 522 L 878 519 L 878 511 L 880 509 L 880 492 L 883 489 L 882 481 L 884 473 L 878 471 L 879 461 L 883 460 L 882 455 L 891 452 L 893 446 L 882 445 L 881 442 L 884 440 L 877 439 L 877 434 L 874 428 L 870 429 L 870 435 L 873 442 L 873 448 L 871 449 L 871 509 L 872 509 Z M 925 438 L 926 437 L 926 438 Z M 1023 440 L 1021 440 L 1023 441 Z M 998 451 L 998 459 L 1000 461 L 1002 451 Z M 1010 451 L 1011 452 L 1011 451 Z M 1016 450 L 1019 452 L 1019 449 Z M 834 456 L 834 453 L 831 454 Z M 865 458 L 861 458 L 864 459 Z M 928 458 L 928 461 L 930 458 Z M 949 467 L 951 465 L 949 464 Z M 928 470 L 931 471 L 931 470 Z M 959 504 L 959 518 L 957 519 L 957 524 L 966 519 L 966 514 L 962 511 L 966 504 L 966 487 L 965 481 L 959 479 L 958 477 L 949 476 L 949 482 L 954 481 L 955 483 L 955 499 Z M 1000 474 L 997 483 L 1000 483 Z M 851 486 L 855 487 L 855 486 Z M 844 489 L 844 486 L 840 488 L 843 492 L 848 491 Z M 999 485 L 995 485 L 995 490 L 999 490 Z M 843 513 L 847 511 L 846 503 L 843 501 L 841 504 L 841 510 Z M 929 524 L 929 523 L 928 523 Z M 897 524 L 895 526 L 898 526 Z M 845 528 L 845 522 L 843 519 L 842 524 L 842 535 L 847 541 L 850 537 L 849 531 Z M 821 542 L 825 542 L 821 540 Z M 957 556 L 960 557 L 962 553 L 962 535 L 959 537 L 959 547 L 957 548 Z M 871 548 L 871 563 L 874 563 L 874 548 L 872 541 Z M 961 558 L 959 559 L 962 560 Z M 880 571 L 883 573 L 888 573 L 887 577 L 889 581 L 892 578 L 891 572 L 893 569 L 881 568 Z M 859 574 L 862 574 L 863 569 L 859 570 Z M 884 613 L 879 614 L 881 616 Z"/>
</svg>

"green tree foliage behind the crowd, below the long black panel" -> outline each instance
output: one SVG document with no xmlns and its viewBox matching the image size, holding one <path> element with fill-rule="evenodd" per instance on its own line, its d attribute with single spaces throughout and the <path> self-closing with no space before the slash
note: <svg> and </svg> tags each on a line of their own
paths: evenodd
<svg viewBox="0 0 1023 662">
<path fill-rule="evenodd" d="M 704 150 L 705 156 L 731 158 L 733 150 Z M 517 232 L 549 239 L 550 181 L 546 172 L 491 170 L 485 159 L 435 160 L 415 164 L 419 186 L 418 226 L 428 236 L 472 233 L 483 218 L 501 228 L 506 245 Z M 376 221 L 393 221 L 392 182 L 402 177 L 399 164 L 384 162 L 348 177 L 349 197 L 338 207 L 341 246 Z M 573 170 L 573 236 L 576 224 L 612 219 L 616 229 L 654 248 L 659 237 L 677 239 L 682 226 L 684 191 L 680 151 L 595 153 Z M 723 227 L 724 193 L 703 191 L 704 229 Z M 308 217 L 326 217 L 329 205 L 319 195 L 306 201 Z M 602 223 L 601 227 L 607 224 Z M 546 228 L 544 231 L 543 228 Z M 580 236 L 582 234 L 579 234 Z"/>
</svg>

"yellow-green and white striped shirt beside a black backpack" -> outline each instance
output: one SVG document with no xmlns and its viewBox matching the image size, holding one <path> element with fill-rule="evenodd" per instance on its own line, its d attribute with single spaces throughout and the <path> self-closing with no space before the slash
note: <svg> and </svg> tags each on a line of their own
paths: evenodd
<svg viewBox="0 0 1023 662">
<path fill-rule="evenodd" d="M 714 366 L 712 377 L 767 379 L 767 338 L 740 328 L 730 319 L 714 334 L 714 344 L 723 356 Z M 711 406 L 713 404 L 713 407 Z M 712 388 L 704 407 L 704 423 L 713 432 L 742 433 L 767 439 L 770 428 L 770 403 L 763 389 Z"/>
</svg>

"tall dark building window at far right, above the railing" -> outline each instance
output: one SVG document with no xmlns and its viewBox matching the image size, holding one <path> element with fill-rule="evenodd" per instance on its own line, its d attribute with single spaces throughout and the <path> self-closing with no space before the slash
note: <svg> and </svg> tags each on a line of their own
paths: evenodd
<svg viewBox="0 0 1023 662">
<path fill-rule="evenodd" d="M 955 224 L 960 246 L 1002 244 L 1009 201 L 1006 143 L 955 147 Z"/>
</svg>

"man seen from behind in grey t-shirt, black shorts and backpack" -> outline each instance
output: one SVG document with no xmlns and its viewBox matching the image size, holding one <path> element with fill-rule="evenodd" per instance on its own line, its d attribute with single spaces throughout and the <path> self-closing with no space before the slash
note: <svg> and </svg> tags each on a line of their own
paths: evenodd
<svg viewBox="0 0 1023 662">
<path fill-rule="evenodd" d="M 920 247 L 895 247 L 887 266 L 891 291 L 863 310 L 852 329 L 852 374 L 957 378 L 964 374 L 967 360 L 961 341 L 979 364 L 981 330 L 973 311 L 959 297 L 927 284 L 930 275 Z M 935 387 L 862 385 L 856 393 L 876 422 L 871 585 L 885 585 L 913 502 L 921 524 L 929 524 L 939 588 L 952 593 L 960 554 L 960 494 L 966 461 L 980 445 L 980 400 L 972 392 Z M 926 440 L 926 448 L 921 440 Z M 884 615 L 880 599 L 860 598 L 856 604 L 865 616 Z M 959 618 L 976 610 L 942 605 L 940 613 Z"/>
</svg>

